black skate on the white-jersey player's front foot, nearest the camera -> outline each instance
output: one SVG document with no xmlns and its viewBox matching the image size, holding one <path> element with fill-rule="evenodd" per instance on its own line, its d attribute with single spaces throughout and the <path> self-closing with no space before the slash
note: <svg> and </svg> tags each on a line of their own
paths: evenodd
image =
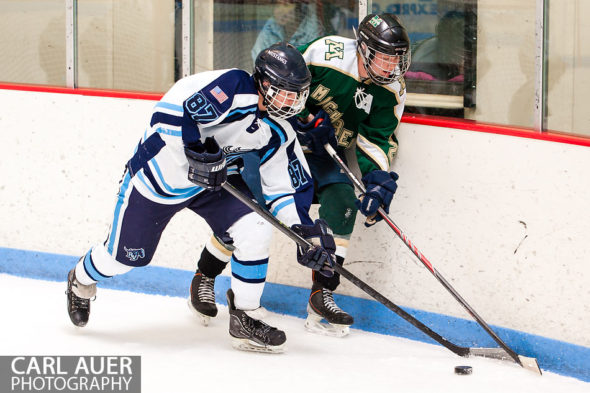
<svg viewBox="0 0 590 393">
<path fill-rule="evenodd" d="M 229 334 L 235 349 L 263 353 L 285 351 L 285 342 L 287 341 L 285 332 L 258 319 L 257 310 L 236 309 L 234 293 L 231 289 L 227 291 L 227 305 L 229 308 Z"/>
</svg>

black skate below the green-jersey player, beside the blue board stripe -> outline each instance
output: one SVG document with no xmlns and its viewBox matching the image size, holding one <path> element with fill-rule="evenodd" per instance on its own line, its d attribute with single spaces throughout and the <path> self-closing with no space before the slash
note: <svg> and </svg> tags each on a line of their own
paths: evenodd
<svg viewBox="0 0 590 393">
<path fill-rule="evenodd" d="M 324 320 L 325 322 L 322 322 Z M 350 332 L 354 319 L 334 302 L 332 291 L 314 282 L 307 303 L 305 328 L 313 333 L 344 337 Z"/>
</svg>

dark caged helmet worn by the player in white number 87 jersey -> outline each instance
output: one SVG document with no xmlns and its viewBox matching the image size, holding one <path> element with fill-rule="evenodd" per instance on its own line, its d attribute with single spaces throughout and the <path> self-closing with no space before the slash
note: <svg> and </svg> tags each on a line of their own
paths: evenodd
<svg viewBox="0 0 590 393">
<path fill-rule="evenodd" d="M 262 50 L 254 62 L 253 77 L 270 116 L 286 119 L 305 107 L 311 73 L 293 45 L 278 42 Z"/>
</svg>

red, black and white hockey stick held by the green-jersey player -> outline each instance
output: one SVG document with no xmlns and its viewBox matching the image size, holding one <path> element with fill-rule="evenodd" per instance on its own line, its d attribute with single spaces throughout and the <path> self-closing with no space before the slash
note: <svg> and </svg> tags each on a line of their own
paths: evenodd
<svg viewBox="0 0 590 393">
<path fill-rule="evenodd" d="M 336 151 L 330 144 L 326 143 L 324 145 L 326 152 L 336 161 L 338 166 L 344 171 L 346 176 L 350 179 L 350 181 L 354 184 L 354 187 L 361 193 L 364 194 L 366 192 L 365 186 L 356 178 L 356 176 L 351 172 L 348 166 L 342 161 L 342 159 L 338 156 Z M 424 255 L 418 250 L 418 248 L 410 241 L 410 239 L 401 231 L 401 229 L 395 225 L 393 220 L 387 215 L 383 208 L 379 208 L 377 210 L 379 215 L 383 218 L 383 221 L 389 225 L 391 229 L 396 233 L 396 235 L 404 242 L 404 244 L 414 253 L 414 255 L 422 262 L 424 266 L 436 277 L 436 279 L 453 295 L 453 297 L 467 310 L 467 312 L 479 323 L 479 325 L 506 351 L 506 353 L 519 365 L 522 367 L 537 372 L 541 374 L 541 369 L 539 368 L 539 364 L 537 363 L 537 359 L 530 358 L 526 356 L 522 356 L 514 352 L 498 335 L 489 327 L 489 325 L 483 320 L 482 317 L 475 312 L 475 310 L 459 295 L 459 293 L 448 283 L 448 281 L 436 270 L 432 263 L 426 259 Z"/>
</svg>

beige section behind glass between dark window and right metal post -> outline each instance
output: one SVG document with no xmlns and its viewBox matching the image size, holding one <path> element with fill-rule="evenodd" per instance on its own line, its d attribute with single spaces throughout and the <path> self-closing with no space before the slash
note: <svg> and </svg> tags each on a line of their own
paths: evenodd
<svg viewBox="0 0 590 393">
<path fill-rule="evenodd" d="M 536 1 L 478 2 L 477 105 L 466 118 L 533 127 Z"/>
</svg>

